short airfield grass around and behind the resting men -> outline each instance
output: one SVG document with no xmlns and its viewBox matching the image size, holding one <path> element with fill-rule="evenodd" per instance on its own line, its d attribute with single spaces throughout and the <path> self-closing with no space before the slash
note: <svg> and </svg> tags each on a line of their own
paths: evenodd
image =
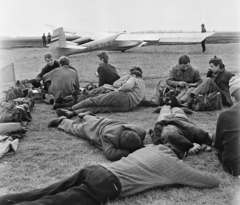
<svg viewBox="0 0 240 205">
<path fill-rule="evenodd" d="M 140 66 L 146 82 L 147 98 L 153 94 L 159 80 L 165 83 L 170 66 L 178 62 L 181 54 L 189 55 L 192 65 L 196 66 L 204 77 L 209 59 L 214 55 L 223 59 L 227 69 L 239 74 L 239 43 L 206 46 L 206 53 L 201 53 L 200 45 L 148 46 L 125 53 L 109 52 L 110 63 L 116 66 L 120 75 L 128 73 L 133 66 Z M 42 56 L 46 51 L 45 48 L 0 50 L 1 66 L 14 62 L 17 79 L 34 78 L 45 65 Z M 88 82 L 97 83 L 94 75 L 97 69 L 96 52 L 72 56 L 70 60 L 72 66 L 78 70 L 81 85 Z M 153 109 L 137 107 L 128 113 L 100 113 L 97 116 L 138 124 L 148 131 L 154 127 L 158 117 L 158 114 L 152 114 Z M 213 134 L 220 112 L 194 112 L 188 117 L 199 127 Z M 56 116 L 52 106 L 35 104 L 32 110 L 33 120 L 28 124 L 28 132 L 20 140 L 16 154 L 0 159 L 0 195 L 45 187 L 85 166 L 110 163 L 101 150 L 88 142 L 56 128 L 47 128 L 48 122 Z M 149 143 L 151 139 L 147 135 L 145 144 Z M 188 156 L 186 163 L 213 173 L 220 180 L 220 186 L 214 189 L 162 187 L 116 199 L 107 204 L 240 204 L 239 179 L 223 171 L 215 150 Z"/>
</svg>

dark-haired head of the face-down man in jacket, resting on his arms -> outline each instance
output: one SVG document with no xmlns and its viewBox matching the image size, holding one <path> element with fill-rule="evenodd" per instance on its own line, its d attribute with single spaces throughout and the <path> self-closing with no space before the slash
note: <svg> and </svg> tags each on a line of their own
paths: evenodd
<svg viewBox="0 0 240 205">
<path fill-rule="evenodd" d="M 132 130 L 124 130 L 120 136 L 120 148 L 134 152 L 141 148 L 142 140 L 140 136 Z"/>
</svg>

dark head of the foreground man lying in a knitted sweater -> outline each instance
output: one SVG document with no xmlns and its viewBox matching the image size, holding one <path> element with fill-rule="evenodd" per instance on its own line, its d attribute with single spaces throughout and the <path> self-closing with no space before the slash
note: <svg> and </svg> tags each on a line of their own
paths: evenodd
<svg viewBox="0 0 240 205">
<path fill-rule="evenodd" d="M 193 147 L 188 139 L 179 134 L 168 135 L 167 141 L 163 144 L 172 149 L 179 159 L 184 159 L 189 149 Z"/>
</svg>

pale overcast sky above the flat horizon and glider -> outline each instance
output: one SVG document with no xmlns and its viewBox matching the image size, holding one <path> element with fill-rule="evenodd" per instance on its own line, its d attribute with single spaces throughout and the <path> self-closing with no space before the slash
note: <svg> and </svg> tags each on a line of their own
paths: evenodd
<svg viewBox="0 0 240 205">
<path fill-rule="evenodd" d="M 0 0 L 0 36 L 72 31 L 240 31 L 239 0 Z"/>
</svg>

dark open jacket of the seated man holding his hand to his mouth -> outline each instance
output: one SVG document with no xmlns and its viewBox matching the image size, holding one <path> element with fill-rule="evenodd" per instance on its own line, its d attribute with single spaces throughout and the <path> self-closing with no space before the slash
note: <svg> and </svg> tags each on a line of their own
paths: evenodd
<svg viewBox="0 0 240 205">
<path fill-rule="evenodd" d="M 212 78 L 213 72 L 209 70 L 207 72 L 207 77 Z M 232 106 L 233 102 L 231 100 L 229 92 L 229 80 L 233 77 L 234 74 L 230 71 L 226 71 L 224 68 L 222 72 L 219 72 L 217 77 L 214 79 L 215 84 L 218 86 L 219 91 L 221 92 L 222 103 L 226 106 Z"/>
</svg>

